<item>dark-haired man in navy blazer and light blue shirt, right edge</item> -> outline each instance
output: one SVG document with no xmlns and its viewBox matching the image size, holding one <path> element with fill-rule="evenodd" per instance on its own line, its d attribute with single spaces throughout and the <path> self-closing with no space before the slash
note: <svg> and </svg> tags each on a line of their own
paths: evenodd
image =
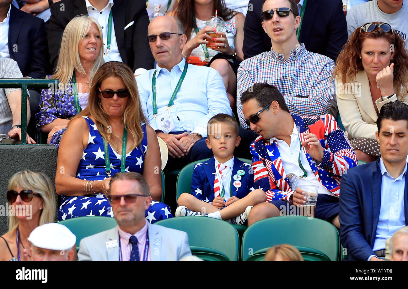
<svg viewBox="0 0 408 289">
<path fill-rule="evenodd" d="M 377 119 L 381 158 L 349 169 L 340 185 L 340 238 L 349 259 L 379 261 L 385 240 L 408 225 L 408 106 L 386 103 Z"/>
</svg>

